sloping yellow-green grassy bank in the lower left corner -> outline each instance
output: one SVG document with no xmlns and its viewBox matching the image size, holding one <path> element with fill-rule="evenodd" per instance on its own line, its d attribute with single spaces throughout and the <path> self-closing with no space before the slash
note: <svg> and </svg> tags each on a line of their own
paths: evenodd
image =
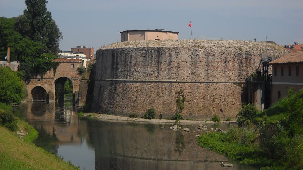
<svg viewBox="0 0 303 170">
<path fill-rule="evenodd" d="M 4 116 L 11 113 L 11 107 L 0 103 L 0 169 L 78 169 L 53 155 L 50 152 L 37 147 L 32 142 L 38 137 L 38 132 L 22 120 L 14 120 L 12 125 L 4 123 Z M 6 118 L 6 117 L 5 117 Z M 1 126 L 13 127 L 13 130 Z"/>
</svg>

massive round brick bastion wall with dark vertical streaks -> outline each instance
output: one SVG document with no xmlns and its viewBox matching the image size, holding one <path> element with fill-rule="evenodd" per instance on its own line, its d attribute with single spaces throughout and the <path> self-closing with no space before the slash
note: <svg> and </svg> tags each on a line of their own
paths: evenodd
<svg viewBox="0 0 303 170">
<path fill-rule="evenodd" d="M 156 43 L 156 44 L 155 44 Z M 268 44 L 269 57 L 282 47 Z M 139 116 L 150 107 L 171 118 L 176 92 L 186 95 L 183 117 L 235 119 L 241 108 L 241 83 L 254 74 L 265 43 L 250 41 L 130 41 L 97 51 L 92 109 Z M 114 80 L 112 80 L 114 79 Z"/>
</svg>

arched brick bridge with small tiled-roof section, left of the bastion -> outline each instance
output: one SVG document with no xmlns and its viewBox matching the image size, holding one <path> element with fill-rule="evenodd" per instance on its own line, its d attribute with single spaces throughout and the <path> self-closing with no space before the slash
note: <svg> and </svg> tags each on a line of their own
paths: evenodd
<svg viewBox="0 0 303 170">
<path fill-rule="evenodd" d="M 54 62 L 60 62 L 59 66 L 54 71 L 51 69 L 48 71 L 43 78 L 38 76 L 37 78 L 32 78 L 32 80 L 26 85 L 27 96 L 23 101 L 56 101 L 56 87 L 55 84 L 61 84 L 60 100 L 64 98 L 64 83 L 70 79 L 73 83 L 73 103 L 80 101 L 80 89 L 82 86 L 86 86 L 86 81 L 81 81 L 81 75 L 78 75 L 76 71 L 78 67 L 82 67 L 81 59 L 57 59 Z M 87 88 L 84 88 L 85 90 Z M 86 94 L 86 93 L 83 93 Z M 85 99 L 85 96 L 82 97 Z"/>
</svg>

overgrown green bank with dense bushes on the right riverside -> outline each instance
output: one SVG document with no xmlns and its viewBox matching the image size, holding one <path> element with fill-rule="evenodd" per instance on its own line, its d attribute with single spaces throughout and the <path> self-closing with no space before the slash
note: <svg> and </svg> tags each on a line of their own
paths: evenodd
<svg viewBox="0 0 303 170">
<path fill-rule="evenodd" d="M 243 164 L 265 169 L 303 169 L 303 89 L 258 112 L 251 104 L 238 113 L 237 128 L 201 135 L 200 146 Z"/>
</svg>

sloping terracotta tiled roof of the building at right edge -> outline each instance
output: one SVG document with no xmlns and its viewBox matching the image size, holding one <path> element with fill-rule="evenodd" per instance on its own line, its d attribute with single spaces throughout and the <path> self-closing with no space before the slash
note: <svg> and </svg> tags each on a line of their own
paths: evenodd
<svg viewBox="0 0 303 170">
<path fill-rule="evenodd" d="M 284 64 L 284 63 L 303 63 L 303 51 L 295 51 L 285 56 L 282 56 L 276 60 L 268 63 L 271 64 Z"/>
</svg>

